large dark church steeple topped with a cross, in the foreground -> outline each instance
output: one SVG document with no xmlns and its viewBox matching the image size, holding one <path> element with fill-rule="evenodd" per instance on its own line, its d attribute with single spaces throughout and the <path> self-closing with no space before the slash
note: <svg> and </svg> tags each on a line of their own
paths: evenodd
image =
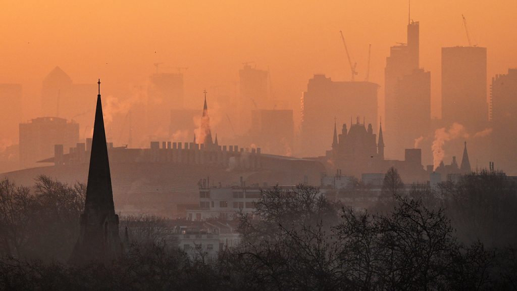
<svg viewBox="0 0 517 291">
<path fill-rule="evenodd" d="M 99 95 L 97 95 L 86 199 L 84 213 L 81 214 L 81 232 L 70 258 L 73 264 L 84 264 L 89 261 L 110 263 L 122 254 L 118 235 L 118 215 L 115 214 L 113 203 L 100 80 L 98 84 Z"/>
</svg>

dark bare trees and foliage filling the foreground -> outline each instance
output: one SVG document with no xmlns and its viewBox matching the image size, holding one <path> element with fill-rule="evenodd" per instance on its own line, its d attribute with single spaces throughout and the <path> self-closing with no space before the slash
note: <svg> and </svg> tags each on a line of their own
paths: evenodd
<svg viewBox="0 0 517 291">
<path fill-rule="evenodd" d="M 414 187 L 409 193 L 401 191 L 396 171 L 389 176 L 383 195 L 391 198 L 371 211 L 338 205 L 314 187 L 300 185 L 288 193 L 281 188 L 265 191 L 254 215 L 239 217 L 240 245 L 220 252 L 216 260 L 192 258 L 174 241 L 164 243 L 166 222 L 152 216 L 121 221 L 132 239 L 126 256 L 112 265 L 69 266 L 57 258 L 49 260 L 47 251 L 44 256 L 29 256 L 32 251 L 24 250 L 38 246 L 29 248 L 30 239 L 14 244 L 16 240 L 2 237 L 10 241 L 8 246 L 19 246 L 4 249 L 0 289 L 517 290 L 516 224 L 510 225 L 516 192 L 506 176 L 483 172 L 457 184 L 445 183 L 438 190 Z M 9 188 L 13 197 L 1 197 L 17 201 L 11 205 L 25 207 L 23 201 L 33 199 L 34 195 L 5 183 L 2 189 Z M 53 185 L 53 189 L 71 191 L 65 185 Z M 75 193 L 82 193 L 79 190 Z M 39 190 L 35 197 L 48 192 L 52 191 Z M 476 211 L 485 217 L 482 221 Z M 31 216 L 17 213 L 11 224 L 4 217 L 2 227 L 26 229 L 26 217 Z M 48 215 L 59 217 L 54 224 L 70 227 L 65 234 L 73 233 L 73 220 L 68 224 L 61 218 L 68 217 L 65 214 Z M 499 220 L 504 220 L 499 223 L 508 227 L 508 233 L 490 229 Z M 31 236 L 22 236 L 26 237 Z M 18 249 L 22 255 L 13 252 Z"/>
</svg>

